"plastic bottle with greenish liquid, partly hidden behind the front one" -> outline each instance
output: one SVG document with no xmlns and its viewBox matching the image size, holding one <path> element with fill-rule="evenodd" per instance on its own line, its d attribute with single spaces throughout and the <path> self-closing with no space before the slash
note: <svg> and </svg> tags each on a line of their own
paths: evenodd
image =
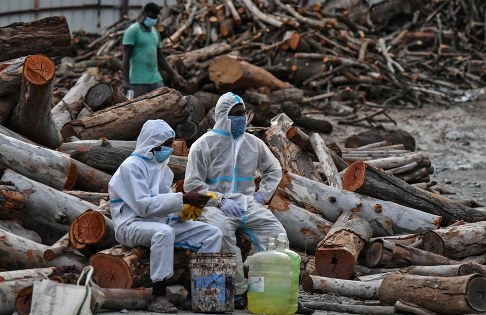
<svg viewBox="0 0 486 315">
<path fill-rule="evenodd" d="M 290 250 L 289 240 L 285 233 L 278 234 L 277 250 L 290 257 L 292 280 L 290 282 L 289 309 L 285 314 L 294 314 L 298 309 L 297 299 L 299 298 L 300 255 L 295 251 Z"/>
</svg>

